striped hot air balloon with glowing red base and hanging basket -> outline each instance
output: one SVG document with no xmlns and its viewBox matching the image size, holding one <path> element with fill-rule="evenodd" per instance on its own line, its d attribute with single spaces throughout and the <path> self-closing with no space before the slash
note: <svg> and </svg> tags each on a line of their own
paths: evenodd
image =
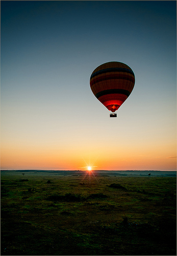
<svg viewBox="0 0 177 256">
<path fill-rule="evenodd" d="M 135 75 L 132 69 L 117 61 L 111 61 L 98 66 L 90 76 L 90 88 L 95 97 L 112 113 L 114 113 L 129 97 L 135 85 Z"/>
</svg>

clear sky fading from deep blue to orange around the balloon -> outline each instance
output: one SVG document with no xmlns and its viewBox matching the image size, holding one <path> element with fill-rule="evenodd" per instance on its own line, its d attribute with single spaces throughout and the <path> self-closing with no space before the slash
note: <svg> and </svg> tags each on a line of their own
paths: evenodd
<svg viewBox="0 0 177 256">
<path fill-rule="evenodd" d="M 89 84 L 108 61 L 135 74 L 117 118 Z M 1 169 L 88 165 L 176 170 L 176 1 L 1 1 Z"/>
</svg>

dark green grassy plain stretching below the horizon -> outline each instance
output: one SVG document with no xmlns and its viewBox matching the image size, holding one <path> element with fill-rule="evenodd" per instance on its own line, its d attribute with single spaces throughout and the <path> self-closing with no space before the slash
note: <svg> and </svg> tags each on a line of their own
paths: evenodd
<svg viewBox="0 0 177 256">
<path fill-rule="evenodd" d="M 176 255 L 176 178 L 96 179 L 2 178 L 1 255 Z"/>
</svg>

